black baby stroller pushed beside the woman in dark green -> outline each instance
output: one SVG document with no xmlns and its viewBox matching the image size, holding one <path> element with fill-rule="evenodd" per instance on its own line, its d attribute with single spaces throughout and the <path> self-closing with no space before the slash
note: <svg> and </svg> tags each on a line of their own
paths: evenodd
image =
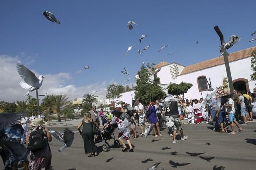
<svg viewBox="0 0 256 170">
<path fill-rule="evenodd" d="M 106 119 L 106 118 L 104 118 L 104 119 Z M 110 121 L 108 121 L 107 119 L 106 119 L 106 122 L 110 123 Z M 102 141 L 104 142 L 102 144 L 102 150 L 104 152 L 107 152 L 109 150 L 109 143 L 107 143 L 107 140 L 114 139 L 114 146 L 116 148 L 118 148 L 120 146 L 120 141 L 116 140 L 115 136 L 114 136 L 114 131 L 117 127 L 118 127 L 117 124 L 114 123 L 114 124 L 110 125 L 110 127 L 106 128 L 106 129 L 103 128 L 103 130 L 101 130 L 101 131 L 98 130 L 96 132 L 94 141 L 95 141 L 95 143 L 100 143 Z"/>
</svg>

